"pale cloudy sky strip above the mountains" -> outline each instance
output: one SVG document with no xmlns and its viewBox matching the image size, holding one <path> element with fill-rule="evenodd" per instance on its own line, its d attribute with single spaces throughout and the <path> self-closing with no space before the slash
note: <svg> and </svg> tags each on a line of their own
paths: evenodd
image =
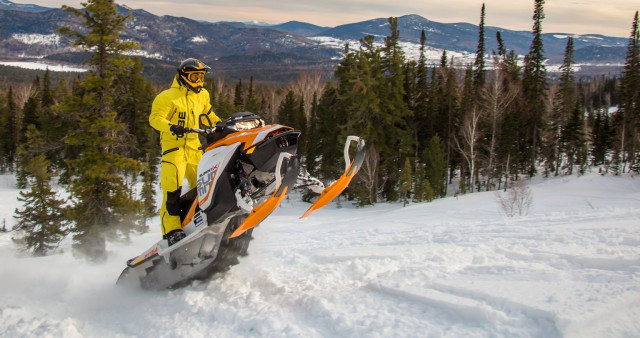
<svg viewBox="0 0 640 338">
<path fill-rule="evenodd" d="M 14 3 L 80 7 L 82 0 L 13 0 Z M 118 4 L 144 9 L 155 15 L 183 16 L 195 20 L 255 21 L 270 24 L 302 21 L 335 27 L 375 18 L 418 14 L 429 20 L 478 24 L 486 6 L 486 26 L 531 30 L 534 1 L 524 0 L 122 0 Z M 551 0 L 544 5 L 543 32 L 603 34 L 628 37 L 637 0 Z"/>
</svg>

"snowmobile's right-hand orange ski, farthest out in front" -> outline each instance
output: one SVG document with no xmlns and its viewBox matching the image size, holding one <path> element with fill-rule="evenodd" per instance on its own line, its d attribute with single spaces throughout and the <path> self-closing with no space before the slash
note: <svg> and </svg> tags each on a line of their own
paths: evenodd
<svg viewBox="0 0 640 338">
<path fill-rule="evenodd" d="M 351 146 L 351 141 L 358 142 L 358 148 L 353 162 L 349 158 L 349 147 Z M 351 182 L 358 170 L 360 170 L 360 168 L 362 167 L 362 162 L 364 162 L 364 154 L 364 139 L 358 136 L 347 137 L 347 142 L 344 145 L 344 174 L 342 174 L 342 176 L 340 176 L 340 178 L 332 185 L 326 187 L 320 194 L 320 197 L 318 197 L 318 199 L 309 207 L 309 209 L 307 209 L 307 212 L 305 212 L 304 215 L 302 215 L 300 218 L 305 218 L 311 215 L 312 212 L 329 204 L 329 202 L 340 195 L 340 193 L 342 193 L 342 191 L 344 191 L 344 189 L 349 185 L 349 182 Z"/>
</svg>

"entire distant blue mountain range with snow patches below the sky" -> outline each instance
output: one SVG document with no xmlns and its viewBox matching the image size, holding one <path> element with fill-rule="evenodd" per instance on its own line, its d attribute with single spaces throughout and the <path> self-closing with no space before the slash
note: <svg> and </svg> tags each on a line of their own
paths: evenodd
<svg viewBox="0 0 640 338">
<path fill-rule="evenodd" d="M 38 59 L 79 64 L 86 55 L 72 41 L 55 31 L 61 26 L 82 30 L 82 21 L 59 8 L 18 5 L 0 0 L 0 55 L 4 61 Z M 187 57 L 202 59 L 219 74 L 232 78 L 256 76 L 262 80 L 287 81 L 300 72 L 321 71 L 331 77 L 342 58 L 344 44 L 365 35 L 383 42 L 389 34 L 386 18 L 378 18 L 337 27 L 322 27 L 299 21 L 263 26 L 254 23 L 202 22 L 184 17 L 157 16 L 143 9 L 118 6 L 120 13 L 131 13 L 122 39 L 140 43 L 135 55 L 145 61 L 145 75 L 166 78 L 175 64 Z M 419 15 L 398 18 L 403 48 L 416 57 L 420 33 L 427 34 L 432 64 L 439 62 L 442 50 L 461 63 L 473 60 L 478 26 L 469 23 L 445 24 Z M 508 49 L 519 55 L 528 52 L 531 32 L 485 27 L 486 48 L 497 49 L 500 31 Z M 550 64 L 562 62 L 569 35 L 544 34 L 546 56 Z M 624 63 L 627 39 L 603 35 L 573 35 L 576 62 L 618 67 Z M 3 61 L 0 60 L 0 61 Z M 471 61 L 472 62 L 472 61 Z M 615 66 L 618 65 L 618 66 Z M 595 66 L 594 66 L 595 67 Z M 619 69 L 618 69 L 619 71 Z M 608 71 L 609 72 L 609 71 Z"/>
</svg>

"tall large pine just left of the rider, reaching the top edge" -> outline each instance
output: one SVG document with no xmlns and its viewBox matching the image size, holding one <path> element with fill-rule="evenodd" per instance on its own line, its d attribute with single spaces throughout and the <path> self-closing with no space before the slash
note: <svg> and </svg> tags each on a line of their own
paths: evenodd
<svg viewBox="0 0 640 338">
<path fill-rule="evenodd" d="M 141 220 L 142 203 L 134 197 L 127 179 L 135 180 L 142 166 L 125 156 L 128 149 L 123 145 L 130 135 L 126 125 L 118 121 L 113 105 L 115 80 L 131 67 L 123 53 L 137 44 L 119 39 L 129 17 L 118 14 L 112 0 L 89 0 L 82 10 L 63 9 L 84 19 L 86 33 L 69 27 L 59 32 L 91 53 L 87 61 L 91 71 L 78 82 L 75 96 L 67 103 L 78 126 L 66 138 L 77 151 L 68 160 L 74 249 L 89 258 L 103 259 L 106 238 L 128 236 Z"/>
</svg>

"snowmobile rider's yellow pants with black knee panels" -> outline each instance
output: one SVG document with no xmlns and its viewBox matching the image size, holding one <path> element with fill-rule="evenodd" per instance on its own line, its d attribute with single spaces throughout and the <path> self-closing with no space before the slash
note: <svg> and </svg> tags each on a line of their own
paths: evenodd
<svg viewBox="0 0 640 338">
<path fill-rule="evenodd" d="M 196 170 L 201 157 L 200 150 L 184 148 L 168 149 L 162 153 L 160 226 L 163 236 L 173 230 L 182 229 L 179 205 L 182 181 L 186 177 L 191 188 L 196 186 Z"/>
</svg>

